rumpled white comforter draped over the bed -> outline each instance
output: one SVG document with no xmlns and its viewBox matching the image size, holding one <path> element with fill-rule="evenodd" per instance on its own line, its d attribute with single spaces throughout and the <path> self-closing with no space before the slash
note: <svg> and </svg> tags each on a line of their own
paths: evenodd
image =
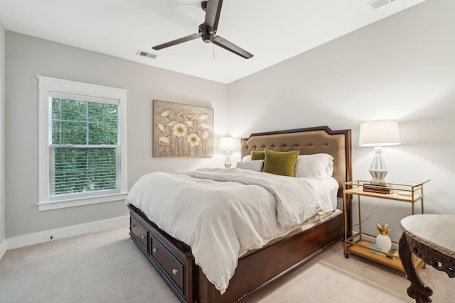
<svg viewBox="0 0 455 303">
<path fill-rule="evenodd" d="M 319 180 L 238 168 L 152 172 L 127 198 L 127 204 L 191 246 L 196 264 L 222 294 L 241 255 L 332 211 L 332 201 Z"/>
</svg>

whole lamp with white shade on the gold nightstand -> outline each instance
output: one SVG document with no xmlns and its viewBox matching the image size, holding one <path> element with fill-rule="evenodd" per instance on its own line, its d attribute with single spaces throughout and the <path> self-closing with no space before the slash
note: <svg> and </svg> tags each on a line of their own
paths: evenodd
<svg viewBox="0 0 455 303">
<path fill-rule="evenodd" d="M 372 184 L 387 184 L 384 178 L 388 171 L 382 158 L 382 146 L 398 145 L 400 143 L 398 121 L 376 120 L 360 123 L 358 145 L 375 147 L 375 157 L 369 170 L 371 177 L 373 177 L 371 180 Z"/>
</svg>

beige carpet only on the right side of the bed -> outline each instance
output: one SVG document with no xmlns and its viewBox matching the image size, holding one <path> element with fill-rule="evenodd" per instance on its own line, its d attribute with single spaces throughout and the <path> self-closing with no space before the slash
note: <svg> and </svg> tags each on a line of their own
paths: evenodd
<svg viewBox="0 0 455 303">
<path fill-rule="evenodd" d="M 419 270 L 419 275 L 432 287 L 433 302 L 455 302 L 455 280 L 450 280 L 445 272 L 427 266 Z M 339 243 L 289 275 L 252 293 L 244 302 L 415 302 L 407 296 L 409 285 L 404 272 L 353 254 L 344 258 L 343 243 Z"/>
</svg>

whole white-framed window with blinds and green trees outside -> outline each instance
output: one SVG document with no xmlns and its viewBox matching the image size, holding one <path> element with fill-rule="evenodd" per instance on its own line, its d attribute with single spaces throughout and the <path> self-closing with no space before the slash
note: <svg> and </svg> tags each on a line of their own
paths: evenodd
<svg viewBox="0 0 455 303">
<path fill-rule="evenodd" d="M 38 76 L 39 210 L 126 199 L 126 94 Z"/>
</svg>

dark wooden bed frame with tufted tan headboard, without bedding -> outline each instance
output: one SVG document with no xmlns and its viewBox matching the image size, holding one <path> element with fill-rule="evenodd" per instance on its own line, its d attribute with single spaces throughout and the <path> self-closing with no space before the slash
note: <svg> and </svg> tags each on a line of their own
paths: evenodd
<svg viewBox="0 0 455 303">
<path fill-rule="evenodd" d="M 254 133 L 242 139 L 242 156 L 252 150 L 279 148 L 300 150 L 300 154 L 329 153 L 333 156 L 333 177 L 338 181 L 338 197 L 343 182 L 351 181 L 350 130 L 332 131 L 327 126 L 290 131 Z M 341 203 L 342 205 L 342 203 Z M 350 201 L 346 209 L 350 218 Z M 130 205 L 130 235 L 182 302 L 233 302 L 245 297 L 278 275 L 308 262 L 344 236 L 344 216 L 333 216 L 311 228 L 280 238 L 262 249 L 243 255 L 226 292 L 221 295 L 194 262 L 191 248 L 169 236 Z M 348 226 L 350 222 L 348 222 Z M 350 228 L 350 227 L 348 227 Z M 350 232 L 350 231 L 348 231 Z"/>
</svg>

